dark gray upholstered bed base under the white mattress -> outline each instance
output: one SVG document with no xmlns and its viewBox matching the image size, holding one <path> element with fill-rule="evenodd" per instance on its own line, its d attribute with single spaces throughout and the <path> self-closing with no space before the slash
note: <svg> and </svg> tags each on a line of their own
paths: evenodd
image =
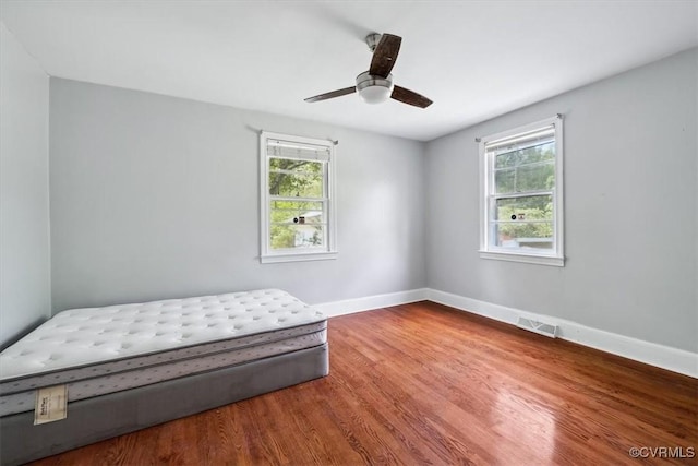
<svg viewBox="0 0 698 466">
<path fill-rule="evenodd" d="M 12 466 L 327 375 L 327 344 L 73 402 L 68 418 L 0 418 L 0 464 Z"/>
</svg>

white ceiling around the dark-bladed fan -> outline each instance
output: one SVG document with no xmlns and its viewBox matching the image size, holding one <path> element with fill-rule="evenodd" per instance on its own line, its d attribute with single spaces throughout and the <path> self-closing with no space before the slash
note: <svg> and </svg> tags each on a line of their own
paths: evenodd
<svg viewBox="0 0 698 466">
<path fill-rule="evenodd" d="M 428 141 L 698 45 L 698 1 L 1 0 L 51 76 Z M 395 83 L 434 104 L 363 104 L 372 32 Z"/>
</svg>

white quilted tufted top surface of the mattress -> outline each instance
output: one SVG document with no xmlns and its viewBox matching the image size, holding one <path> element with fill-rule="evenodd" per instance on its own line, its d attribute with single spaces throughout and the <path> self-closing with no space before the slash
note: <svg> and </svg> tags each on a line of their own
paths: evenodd
<svg viewBox="0 0 698 466">
<path fill-rule="evenodd" d="M 73 309 L 3 350 L 0 381 L 325 319 L 279 289 Z"/>
</svg>

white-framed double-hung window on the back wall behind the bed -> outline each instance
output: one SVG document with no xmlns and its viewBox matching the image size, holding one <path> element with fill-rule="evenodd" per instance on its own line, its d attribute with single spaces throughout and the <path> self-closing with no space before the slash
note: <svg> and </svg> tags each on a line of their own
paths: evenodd
<svg viewBox="0 0 698 466">
<path fill-rule="evenodd" d="M 335 259 L 335 145 L 262 132 L 261 262 Z"/>
</svg>

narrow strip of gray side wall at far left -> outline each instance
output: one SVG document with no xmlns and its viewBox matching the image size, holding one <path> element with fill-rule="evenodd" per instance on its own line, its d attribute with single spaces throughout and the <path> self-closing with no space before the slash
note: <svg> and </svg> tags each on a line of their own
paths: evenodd
<svg viewBox="0 0 698 466">
<path fill-rule="evenodd" d="M 50 314 L 48 76 L 0 23 L 0 347 Z"/>
</svg>

